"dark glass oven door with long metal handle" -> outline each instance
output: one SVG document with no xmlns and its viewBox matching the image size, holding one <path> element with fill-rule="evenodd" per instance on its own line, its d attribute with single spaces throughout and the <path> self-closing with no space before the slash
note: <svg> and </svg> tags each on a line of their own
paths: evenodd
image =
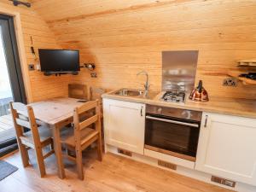
<svg viewBox="0 0 256 192">
<path fill-rule="evenodd" d="M 145 148 L 195 161 L 200 122 L 146 114 Z"/>
</svg>

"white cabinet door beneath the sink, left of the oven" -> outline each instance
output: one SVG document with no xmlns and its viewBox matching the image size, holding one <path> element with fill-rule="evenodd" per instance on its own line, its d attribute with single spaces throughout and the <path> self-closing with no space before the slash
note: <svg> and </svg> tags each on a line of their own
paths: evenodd
<svg viewBox="0 0 256 192">
<path fill-rule="evenodd" d="M 145 104 L 103 99 L 105 142 L 143 154 Z"/>
</svg>

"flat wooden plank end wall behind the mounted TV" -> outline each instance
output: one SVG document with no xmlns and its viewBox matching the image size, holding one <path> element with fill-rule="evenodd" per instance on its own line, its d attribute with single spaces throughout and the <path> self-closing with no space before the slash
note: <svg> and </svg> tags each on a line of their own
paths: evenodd
<svg viewBox="0 0 256 192">
<path fill-rule="evenodd" d="M 0 0 L 0 7 L 20 13 L 21 27 L 26 49 L 26 65 L 36 64 L 34 56 L 30 52 L 32 36 L 33 45 L 38 55 L 38 48 L 61 48 L 55 41 L 54 33 L 44 19 L 32 8 L 26 8 L 20 5 L 15 7 L 7 0 Z M 28 68 L 28 67 L 26 67 Z M 29 72 L 29 80 L 32 87 L 31 101 L 40 101 L 55 96 L 67 96 L 67 84 L 70 82 L 70 76 L 63 77 L 45 77 L 38 71 Z"/>
</svg>

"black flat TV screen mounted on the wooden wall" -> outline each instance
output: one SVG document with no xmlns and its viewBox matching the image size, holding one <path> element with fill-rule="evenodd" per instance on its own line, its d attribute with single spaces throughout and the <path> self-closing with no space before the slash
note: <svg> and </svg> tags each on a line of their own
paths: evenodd
<svg viewBox="0 0 256 192">
<path fill-rule="evenodd" d="M 76 72 L 79 50 L 38 49 L 42 72 Z"/>
</svg>

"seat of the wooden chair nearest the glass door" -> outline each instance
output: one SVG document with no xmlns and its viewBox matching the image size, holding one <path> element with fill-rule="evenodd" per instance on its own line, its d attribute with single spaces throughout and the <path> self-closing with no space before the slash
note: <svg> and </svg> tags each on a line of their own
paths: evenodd
<svg viewBox="0 0 256 192">
<path fill-rule="evenodd" d="M 39 133 L 41 143 L 44 143 L 45 141 L 49 140 L 49 138 L 52 137 L 51 130 L 47 126 L 39 126 L 38 133 Z M 20 137 L 20 139 L 25 140 L 27 143 L 34 144 L 33 137 L 32 137 L 32 131 L 28 131 L 28 132 L 24 133 L 23 136 Z"/>
</svg>

